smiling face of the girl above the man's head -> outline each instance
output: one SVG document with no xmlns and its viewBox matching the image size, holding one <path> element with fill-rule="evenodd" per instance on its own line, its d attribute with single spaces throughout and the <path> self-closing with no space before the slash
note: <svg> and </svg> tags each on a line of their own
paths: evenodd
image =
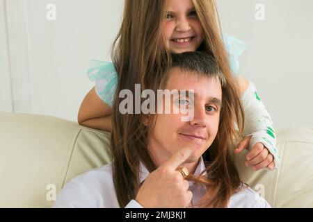
<svg viewBox="0 0 313 222">
<path fill-rule="evenodd" d="M 168 0 L 163 24 L 165 44 L 171 53 L 196 51 L 204 40 L 204 30 L 191 0 Z"/>
</svg>

